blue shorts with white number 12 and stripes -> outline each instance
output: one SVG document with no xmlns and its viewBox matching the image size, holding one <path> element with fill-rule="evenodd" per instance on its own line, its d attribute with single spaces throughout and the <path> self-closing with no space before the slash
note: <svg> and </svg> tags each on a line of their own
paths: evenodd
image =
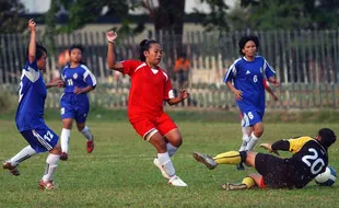
<svg viewBox="0 0 339 208">
<path fill-rule="evenodd" d="M 48 126 L 32 130 L 24 130 L 21 135 L 36 152 L 50 151 L 58 143 L 59 136 Z"/>
</svg>

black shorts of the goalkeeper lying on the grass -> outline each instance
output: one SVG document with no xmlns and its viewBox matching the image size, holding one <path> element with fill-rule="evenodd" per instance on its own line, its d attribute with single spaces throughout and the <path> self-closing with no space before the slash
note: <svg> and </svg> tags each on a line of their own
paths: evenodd
<svg viewBox="0 0 339 208">
<path fill-rule="evenodd" d="M 255 164 L 258 173 L 262 175 L 265 187 L 291 188 L 294 186 L 290 180 L 295 169 L 285 159 L 257 153 Z"/>
</svg>

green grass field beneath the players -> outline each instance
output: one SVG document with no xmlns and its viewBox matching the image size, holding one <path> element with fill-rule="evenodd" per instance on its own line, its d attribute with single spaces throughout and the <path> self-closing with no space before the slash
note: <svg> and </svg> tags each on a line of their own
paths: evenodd
<svg viewBox="0 0 339 208">
<path fill-rule="evenodd" d="M 113 115 L 114 116 L 114 115 Z M 197 119 L 192 119 L 197 120 Z M 52 118 L 47 124 L 58 134 L 61 122 Z M 95 150 L 85 151 L 85 139 L 71 132 L 69 161 L 60 161 L 55 174 L 58 188 L 39 190 L 37 183 L 45 169 L 46 153 L 35 155 L 20 165 L 21 175 L 2 171 L 0 176 L 0 207 L 338 207 L 338 184 L 318 187 L 314 182 L 304 189 L 250 189 L 225 192 L 220 185 L 239 182 L 247 169 L 220 165 L 210 171 L 192 157 L 192 151 L 217 154 L 237 150 L 241 129 L 237 120 L 185 122 L 177 120 L 184 143 L 173 158 L 177 174 L 188 187 L 167 184 L 153 165 L 155 149 L 143 141 L 127 120 L 90 118 L 87 125 L 95 136 Z M 7 160 L 26 146 L 16 131 L 13 119 L 0 119 L 0 159 Z M 261 142 L 300 135 L 314 136 L 320 127 L 338 131 L 338 124 L 267 123 Z M 329 151 L 330 165 L 339 173 L 339 142 Z M 264 151 L 256 148 L 257 151 Z M 290 155 L 288 152 L 284 157 Z"/>
</svg>

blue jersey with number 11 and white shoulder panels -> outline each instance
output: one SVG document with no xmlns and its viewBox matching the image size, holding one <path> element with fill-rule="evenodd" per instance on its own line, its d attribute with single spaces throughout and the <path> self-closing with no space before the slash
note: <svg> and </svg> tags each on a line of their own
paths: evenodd
<svg viewBox="0 0 339 208">
<path fill-rule="evenodd" d="M 89 68 L 84 65 L 79 65 L 75 68 L 67 66 L 61 72 L 62 80 L 65 81 L 65 93 L 74 93 L 74 88 L 86 88 L 91 85 L 96 86 L 96 79 Z"/>
</svg>

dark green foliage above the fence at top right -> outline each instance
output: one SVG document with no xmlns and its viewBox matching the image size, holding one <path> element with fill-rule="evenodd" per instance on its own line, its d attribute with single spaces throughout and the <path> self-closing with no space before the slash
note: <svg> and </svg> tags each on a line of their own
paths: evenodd
<svg viewBox="0 0 339 208">
<path fill-rule="evenodd" d="M 324 30 L 339 23 L 339 2 L 334 0 L 241 0 L 241 5 L 231 20 L 249 30 Z"/>
</svg>

